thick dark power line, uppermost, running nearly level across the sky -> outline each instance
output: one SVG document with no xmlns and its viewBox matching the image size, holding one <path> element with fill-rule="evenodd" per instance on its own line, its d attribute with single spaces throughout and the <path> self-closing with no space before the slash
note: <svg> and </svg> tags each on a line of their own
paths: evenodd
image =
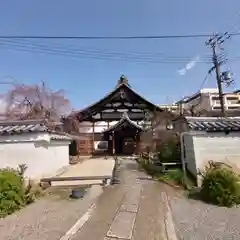
<svg viewBox="0 0 240 240">
<path fill-rule="evenodd" d="M 230 36 L 239 36 L 240 33 L 231 33 Z M 0 35 L 2 39 L 82 39 L 82 40 L 134 40 L 134 39 L 176 39 L 176 38 L 206 38 L 209 34 L 186 35 L 152 35 L 152 36 L 41 36 L 41 35 Z"/>
</svg>

